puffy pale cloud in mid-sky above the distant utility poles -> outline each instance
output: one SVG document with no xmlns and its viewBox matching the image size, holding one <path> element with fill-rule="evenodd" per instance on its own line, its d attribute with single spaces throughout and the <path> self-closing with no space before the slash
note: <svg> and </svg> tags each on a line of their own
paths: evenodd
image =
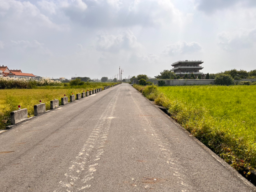
<svg viewBox="0 0 256 192">
<path fill-rule="evenodd" d="M 119 35 L 100 35 L 97 41 L 97 50 L 119 52 L 120 50 L 138 49 L 141 44 L 132 31 L 127 30 Z"/>
</svg>

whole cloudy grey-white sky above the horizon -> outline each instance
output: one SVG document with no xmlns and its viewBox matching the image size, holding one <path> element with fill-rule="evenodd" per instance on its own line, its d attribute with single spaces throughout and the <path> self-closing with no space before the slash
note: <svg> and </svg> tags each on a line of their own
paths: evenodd
<svg viewBox="0 0 256 192">
<path fill-rule="evenodd" d="M 256 69 L 255 0 L 0 0 L 0 65 L 50 78 Z"/>
</svg>

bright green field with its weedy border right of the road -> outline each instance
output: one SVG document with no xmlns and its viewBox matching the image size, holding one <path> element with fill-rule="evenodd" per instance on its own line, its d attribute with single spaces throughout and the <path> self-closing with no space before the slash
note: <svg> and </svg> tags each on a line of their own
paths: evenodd
<svg viewBox="0 0 256 192">
<path fill-rule="evenodd" d="M 134 85 L 246 177 L 256 168 L 256 85 Z"/>
</svg>

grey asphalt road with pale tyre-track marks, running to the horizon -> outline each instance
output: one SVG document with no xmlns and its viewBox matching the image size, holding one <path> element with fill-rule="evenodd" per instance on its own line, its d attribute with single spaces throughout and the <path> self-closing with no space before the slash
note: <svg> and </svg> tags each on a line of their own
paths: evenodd
<svg viewBox="0 0 256 192">
<path fill-rule="evenodd" d="M 1 192 L 249 192 L 255 187 L 128 84 L 0 134 Z"/>
</svg>

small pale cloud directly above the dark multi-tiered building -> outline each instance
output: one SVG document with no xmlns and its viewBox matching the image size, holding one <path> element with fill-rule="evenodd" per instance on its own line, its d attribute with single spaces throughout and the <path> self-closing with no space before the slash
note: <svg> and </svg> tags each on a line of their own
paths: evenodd
<svg viewBox="0 0 256 192">
<path fill-rule="evenodd" d="M 202 46 L 198 42 L 180 41 L 175 44 L 167 45 L 163 54 L 165 56 L 173 56 L 174 54 L 189 54 L 202 50 Z"/>
</svg>

